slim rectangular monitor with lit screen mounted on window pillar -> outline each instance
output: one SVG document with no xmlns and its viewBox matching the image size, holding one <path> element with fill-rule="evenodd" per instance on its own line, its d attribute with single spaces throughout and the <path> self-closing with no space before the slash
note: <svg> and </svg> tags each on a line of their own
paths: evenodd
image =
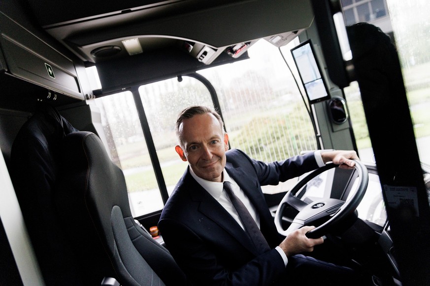
<svg viewBox="0 0 430 286">
<path fill-rule="evenodd" d="M 330 93 L 322 76 L 312 41 L 309 39 L 300 43 L 297 47 L 291 49 L 291 54 L 296 63 L 309 104 L 330 99 Z"/>
</svg>

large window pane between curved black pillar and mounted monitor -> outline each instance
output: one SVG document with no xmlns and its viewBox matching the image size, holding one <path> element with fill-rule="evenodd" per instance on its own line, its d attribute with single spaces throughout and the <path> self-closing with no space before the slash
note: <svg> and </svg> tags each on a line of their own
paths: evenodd
<svg viewBox="0 0 430 286">
<path fill-rule="evenodd" d="M 317 149 L 309 113 L 278 48 L 259 40 L 248 55 L 198 72 L 215 87 L 230 146 L 264 162 Z"/>
</svg>

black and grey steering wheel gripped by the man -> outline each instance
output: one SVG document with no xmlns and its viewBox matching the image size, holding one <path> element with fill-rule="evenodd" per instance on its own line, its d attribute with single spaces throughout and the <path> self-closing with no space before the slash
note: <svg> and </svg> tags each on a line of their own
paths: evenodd
<svg viewBox="0 0 430 286">
<path fill-rule="evenodd" d="M 298 183 L 293 187 L 293 189 L 287 192 L 287 194 L 281 200 L 275 214 L 275 225 L 278 232 L 282 235 L 287 236 L 294 230 L 300 229 L 303 226 L 312 226 L 316 223 L 316 221 L 326 220 L 326 222 L 322 225 L 306 233 L 306 236 L 309 238 L 318 238 L 329 233 L 341 222 L 349 218 L 349 216 L 355 212 L 356 208 L 363 199 L 364 194 L 366 192 L 367 183 L 369 181 L 367 168 L 359 160 L 354 161 L 354 168 L 358 172 L 359 182 L 354 192 L 354 195 L 349 200 L 345 202 L 343 200 L 322 198 L 312 201 L 308 204 L 296 198 L 296 193 L 312 178 L 316 177 L 324 171 L 339 166 L 333 163 L 328 163 L 324 167 L 321 167 L 309 173 L 302 180 L 298 181 Z M 298 214 L 294 218 L 290 227 L 284 230 L 282 227 L 282 214 L 286 205 L 289 205 L 298 210 Z"/>
</svg>

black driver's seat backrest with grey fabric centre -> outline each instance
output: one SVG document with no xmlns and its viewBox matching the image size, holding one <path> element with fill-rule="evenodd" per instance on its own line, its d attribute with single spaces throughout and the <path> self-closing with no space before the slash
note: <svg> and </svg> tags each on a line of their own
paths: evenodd
<svg viewBox="0 0 430 286">
<path fill-rule="evenodd" d="M 121 285 L 185 285 L 170 253 L 132 217 L 124 174 L 91 132 L 67 135 L 61 151 L 56 203 L 86 280 Z"/>
</svg>

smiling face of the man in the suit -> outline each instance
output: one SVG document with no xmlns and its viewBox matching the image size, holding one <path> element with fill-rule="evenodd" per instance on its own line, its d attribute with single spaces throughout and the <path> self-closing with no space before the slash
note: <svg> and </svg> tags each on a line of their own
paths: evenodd
<svg viewBox="0 0 430 286">
<path fill-rule="evenodd" d="M 180 136 L 183 148 L 175 147 L 183 161 L 188 161 L 198 177 L 221 182 L 226 166 L 229 136 L 223 134 L 220 122 L 212 114 L 197 114 L 184 119 Z"/>
</svg>

